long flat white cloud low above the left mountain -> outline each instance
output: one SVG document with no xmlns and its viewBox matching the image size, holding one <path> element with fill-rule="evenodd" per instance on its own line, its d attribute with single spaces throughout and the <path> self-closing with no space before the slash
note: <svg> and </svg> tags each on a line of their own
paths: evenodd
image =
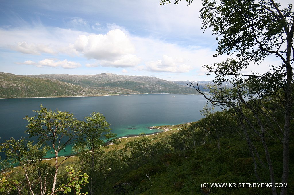
<svg viewBox="0 0 294 195">
<path fill-rule="evenodd" d="M 31 60 L 28 60 L 28 61 L 24 61 L 23 63 L 18 63 L 18 64 L 34 65 L 37 67 L 44 67 L 44 66 L 53 67 L 53 68 L 61 67 L 64 69 L 74 69 L 74 68 L 78 68 L 81 66 L 81 64 L 77 63 L 77 62 L 67 61 L 67 60 L 54 61 L 53 59 L 44 59 L 39 62 L 34 62 Z"/>
</svg>

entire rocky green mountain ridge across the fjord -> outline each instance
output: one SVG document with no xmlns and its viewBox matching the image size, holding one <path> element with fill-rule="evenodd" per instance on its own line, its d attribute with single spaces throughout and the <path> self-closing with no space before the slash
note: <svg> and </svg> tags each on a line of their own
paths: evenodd
<svg viewBox="0 0 294 195">
<path fill-rule="evenodd" d="M 113 94 L 198 94 L 191 87 L 150 76 L 0 73 L 0 98 Z"/>
</svg>

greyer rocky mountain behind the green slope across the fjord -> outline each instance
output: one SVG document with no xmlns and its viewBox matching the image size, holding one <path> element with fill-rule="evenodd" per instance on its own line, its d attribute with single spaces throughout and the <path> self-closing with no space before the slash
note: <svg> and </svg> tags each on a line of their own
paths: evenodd
<svg viewBox="0 0 294 195">
<path fill-rule="evenodd" d="M 111 73 L 96 75 L 43 74 L 26 75 L 31 78 L 58 80 L 81 87 L 108 91 L 109 93 L 180 93 L 196 94 L 188 86 L 150 76 L 123 76 Z"/>
</svg>

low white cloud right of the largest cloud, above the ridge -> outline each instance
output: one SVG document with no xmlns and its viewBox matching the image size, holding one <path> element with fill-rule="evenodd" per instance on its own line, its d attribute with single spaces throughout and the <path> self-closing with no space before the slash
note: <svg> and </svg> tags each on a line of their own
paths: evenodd
<svg viewBox="0 0 294 195">
<path fill-rule="evenodd" d="M 153 72 L 189 72 L 192 66 L 184 64 L 182 58 L 172 58 L 162 55 L 161 60 L 150 61 L 146 63 L 146 69 Z"/>
</svg>

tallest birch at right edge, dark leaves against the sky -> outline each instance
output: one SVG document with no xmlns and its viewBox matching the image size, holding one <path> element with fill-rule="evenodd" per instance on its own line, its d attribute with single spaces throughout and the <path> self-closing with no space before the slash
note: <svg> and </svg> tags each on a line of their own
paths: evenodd
<svg viewBox="0 0 294 195">
<path fill-rule="evenodd" d="M 181 0 L 180 0 L 181 1 Z M 186 0 L 190 5 L 193 0 Z M 283 107 L 283 129 L 281 141 L 283 144 L 282 183 L 289 177 L 289 141 L 290 120 L 293 112 L 293 5 L 281 6 L 275 0 L 203 0 L 200 18 L 203 30 L 212 30 L 218 41 L 215 57 L 221 54 L 234 54 L 241 63 L 235 63 L 235 69 L 222 66 L 218 69 L 216 82 L 228 81 L 234 76 L 257 79 L 263 83 L 277 85 L 283 93 L 279 97 Z M 170 1 L 161 0 L 160 4 Z M 179 0 L 174 1 L 175 4 Z M 240 72 L 249 63 L 258 66 L 265 57 L 274 55 L 280 59 L 279 65 L 268 64 L 269 71 L 265 74 Z M 211 73 L 217 73 L 215 67 L 206 66 Z M 234 70 L 234 71 L 232 71 Z M 188 84 L 188 83 L 187 83 Z M 199 88 L 198 88 L 199 89 Z M 266 91 L 267 88 L 261 89 Z M 260 93 L 262 94 L 262 93 Z M 274 94 L 273 94 L 274 95 Z M 287 188 L 282 187 L 280 194 L 286 194 Z M 273 188 L 273 194 L 277 194 Z"/>
</svg>

